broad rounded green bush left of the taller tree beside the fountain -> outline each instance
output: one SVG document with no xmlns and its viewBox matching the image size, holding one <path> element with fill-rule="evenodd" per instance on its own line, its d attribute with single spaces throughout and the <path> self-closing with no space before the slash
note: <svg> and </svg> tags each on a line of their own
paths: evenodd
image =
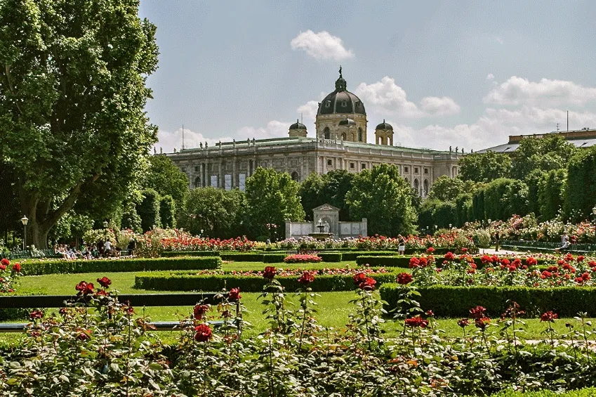
<svg viewBox="0 0 596 397">
<path fill-rule="evenodd" d="M 231 238 L 244 232 L 241 223 L 245 215 L 244 193 L 207 186 L 190 190 L 179 223 L 193 235 Z"/>
</svg>

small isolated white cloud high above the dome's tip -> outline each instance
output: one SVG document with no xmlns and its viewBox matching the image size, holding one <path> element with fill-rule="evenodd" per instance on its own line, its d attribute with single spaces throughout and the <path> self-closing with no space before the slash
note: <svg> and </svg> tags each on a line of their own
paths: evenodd
<svg viewBox="0 0 596 397">
<path fill-rule="evenodd" d="M 322 60 L 344 60 L 353 58 L 352 50 L 347 50 L 339 37 L 329 32 L 314 33 L 312 30 L 300 32 L 290 41 L 293 50 L 303 50 L 312 58 Z"/>
</svg>

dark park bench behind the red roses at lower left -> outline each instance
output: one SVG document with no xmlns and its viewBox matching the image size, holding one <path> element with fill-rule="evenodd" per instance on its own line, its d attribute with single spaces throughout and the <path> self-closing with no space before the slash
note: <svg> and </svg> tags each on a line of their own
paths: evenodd
<svg viewBox="0 0 596 397">
<path fill-rule="evenodd" d="M 221 303 L 219 294 L 213 292 L 202 292 L 194 294 L 121 294 L 118 295 L 118 301 L 130 302 L 133 308 L 157 307 L 157 306 L 194 306 L 202 302 L 216 306 Z M 62 308 L 66 302 L 81 302 L 89 297 L 79 297 L 77 295 L 10 295 L 0 296 L 0 308 Z M 237 301 L 236 318 L 240 315 L 240 303 Z M 214 327 L 220 327 L 223 321 L 209 321 Z M 155 321 L 149 323 L 159 331 L 173 330 L 180 325 L 179 321 Z M 230 325 L 239 327 L 236 321 L 230 322 Z M 30 323 L 0 323 L 0 332 L 24 332 L 30 326 Z"/>
</svg>

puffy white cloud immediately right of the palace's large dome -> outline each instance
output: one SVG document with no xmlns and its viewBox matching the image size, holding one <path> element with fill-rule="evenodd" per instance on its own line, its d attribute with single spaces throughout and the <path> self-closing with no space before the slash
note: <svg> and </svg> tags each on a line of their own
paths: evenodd
<svg viewBox="0 0 596 397">
<path fill-rule="evenodd" d="M 406 91 L 395 84 L 395 79 L 385 76 L 380 82 L 357 86 L 356 95 L 364 105 L 380 114 L 389 113 L 400 117 L 425 117 L 453 115 L 460 112 L 455 100 L 444 96 L 428 96 L 420 100 L 420 108 L 407 99 Z M 380 109 L 376 109 L 380 108 Z"/>
</svg>

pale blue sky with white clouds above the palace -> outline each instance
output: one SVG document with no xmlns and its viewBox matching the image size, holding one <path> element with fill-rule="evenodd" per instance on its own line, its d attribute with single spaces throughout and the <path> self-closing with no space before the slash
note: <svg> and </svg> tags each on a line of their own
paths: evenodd
<svg viewBox="0 0 596 397">
<path fill-rule="evenodd" d="M 157 26 L 147 115 L 164 152 L 282 138 L 335 89 L 363 101 L 369 143 L 480 150 L 596 128 L 596 1 L 140 0 Z"/>
</svg>

